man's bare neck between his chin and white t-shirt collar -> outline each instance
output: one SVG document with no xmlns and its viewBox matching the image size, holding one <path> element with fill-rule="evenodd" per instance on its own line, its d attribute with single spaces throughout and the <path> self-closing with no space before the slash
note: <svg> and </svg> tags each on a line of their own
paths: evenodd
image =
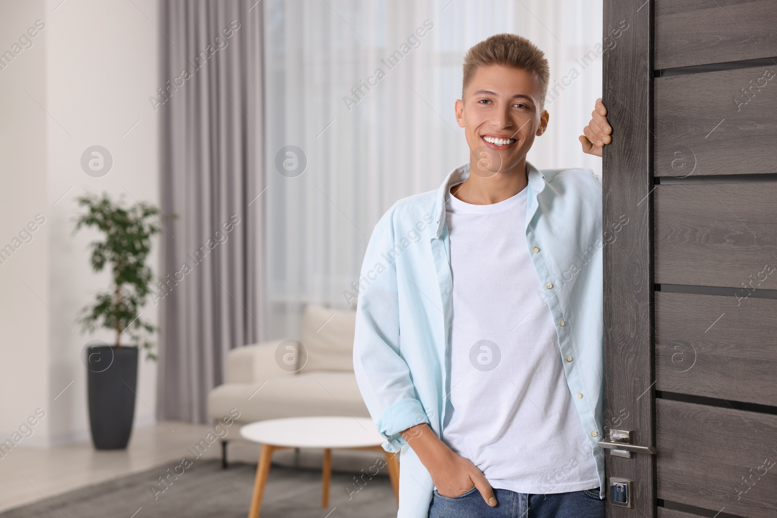
<svg viewBox="0 0 777 518">
<path fill-rule="evenodd" d="M 469 177 L 451 189 L 451 194 L 472 205 L 491 205 L 507 200 L 520 193 L 528 183 L 526 158 L 513 168 L 492 173 L 476 169 L 477 163 L 470 162 Z"/>
</svg>

